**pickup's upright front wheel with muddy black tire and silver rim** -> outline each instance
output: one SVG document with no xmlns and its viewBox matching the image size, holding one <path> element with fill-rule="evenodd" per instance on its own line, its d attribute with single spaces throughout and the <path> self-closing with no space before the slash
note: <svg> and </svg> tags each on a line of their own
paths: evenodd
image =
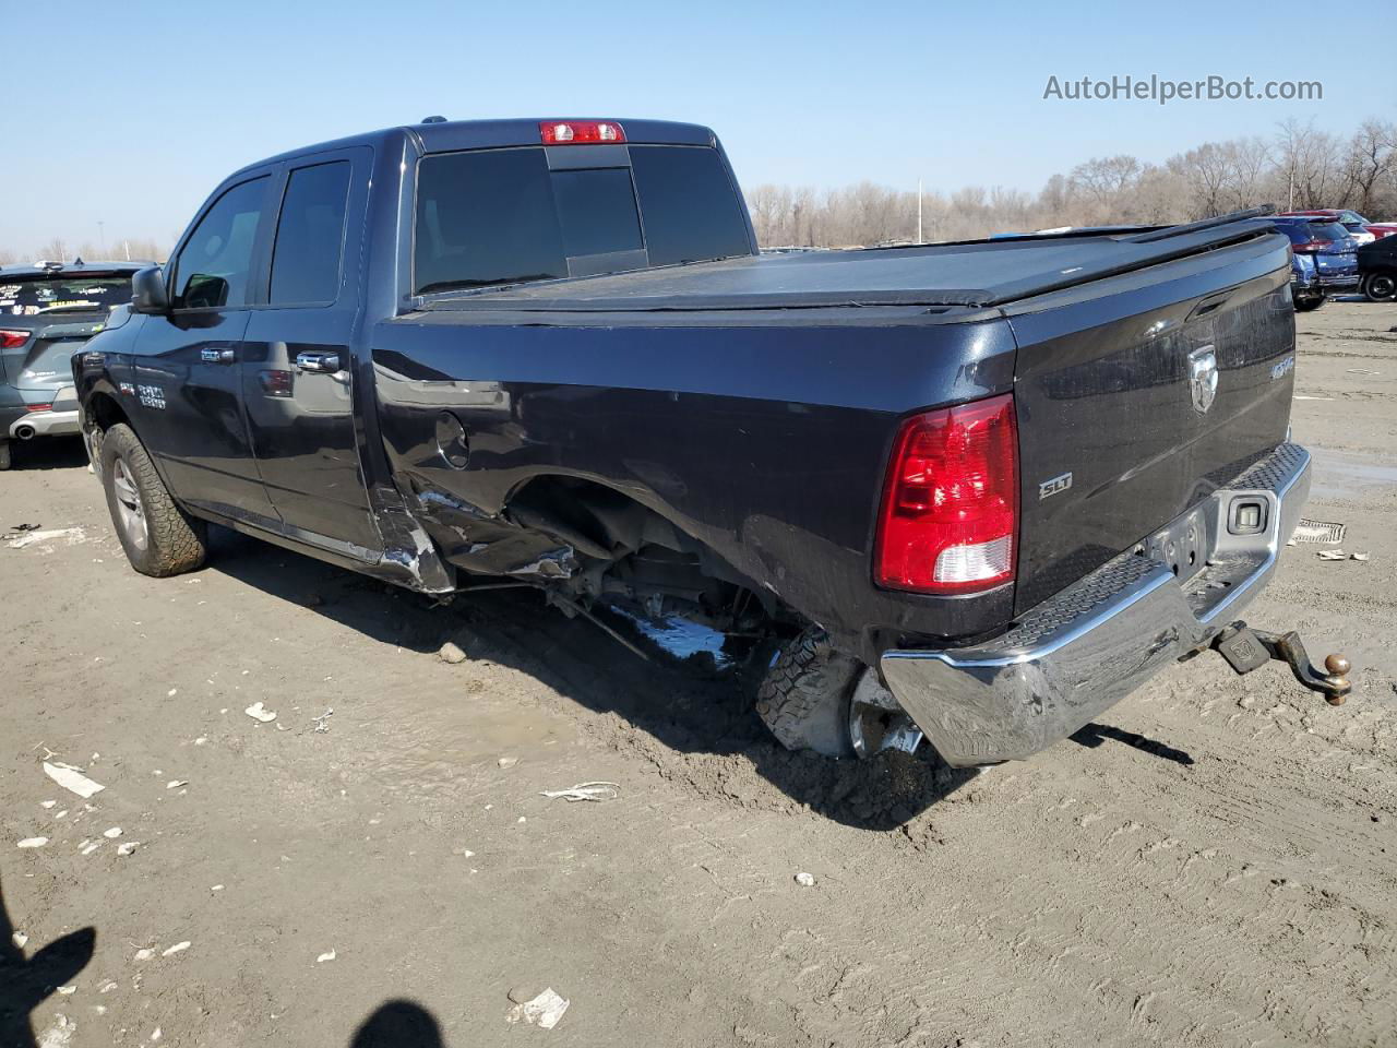
<svg viewBox="0 0 1397 1048">
<path fill-rule="evenodd" d="M 208 527 L 175 503 L 130 426 L 119 423 L 106 430 L 101 458 L 106 507 L 131 567 L 165 578 L 201 566 Z M 144 534 L 137 518 L 144 521 Z"/>
</svg>

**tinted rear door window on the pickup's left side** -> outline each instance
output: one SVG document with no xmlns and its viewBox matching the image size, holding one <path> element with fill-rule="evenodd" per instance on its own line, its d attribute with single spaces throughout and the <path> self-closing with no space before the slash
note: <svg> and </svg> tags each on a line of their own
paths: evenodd
<svg viewBox="0 0 1397 1048">
<path fill-rule="evenodd" d="M 272 305 L 335 300 L 344 264 L 348 197 L 349 161 L 291 172 L 271 257 Z"/>
</svg>

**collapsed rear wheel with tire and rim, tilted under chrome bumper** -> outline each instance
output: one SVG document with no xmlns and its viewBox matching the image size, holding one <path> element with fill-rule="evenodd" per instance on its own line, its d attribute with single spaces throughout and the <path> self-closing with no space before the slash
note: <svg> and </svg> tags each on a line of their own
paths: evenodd
<svg viewBox="0 0 1397 1048">
<path fill-rule="evenodd" d="M 827 757 L 872 757 L 883 749 L 915 750 L 922 732 L 891 696 L 862 701 L 870 671 L 841 655 L 823 630 L 807 629 L 781 644 L 757 689 L 757 714 L 791 750 Z"/>
</svg>

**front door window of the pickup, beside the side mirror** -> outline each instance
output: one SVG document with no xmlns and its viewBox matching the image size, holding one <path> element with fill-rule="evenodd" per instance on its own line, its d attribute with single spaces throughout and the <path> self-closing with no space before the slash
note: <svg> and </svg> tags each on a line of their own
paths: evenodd
<svg viewBox="0 0 1397 1048">
<path fill-rule="evenodd" d="M 233 186 L 198 221 L 175 264 L 176 309 L 247 305 L 253 245 L 268 176 Z"/>
</svg>

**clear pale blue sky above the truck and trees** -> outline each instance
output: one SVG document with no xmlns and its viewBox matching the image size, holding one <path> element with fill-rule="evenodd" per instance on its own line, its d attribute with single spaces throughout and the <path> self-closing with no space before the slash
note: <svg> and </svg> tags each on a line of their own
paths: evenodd
<svg viewBox="0 0 1397 1048">
<path fill-rule="evenodd" d="M 1315 42 L 1315 4 L 1292 0 L 6 0 L 0 27 L 0 247 L 22 254 L 95 243 L 98 221 L 170 242 L 246 162 L 429 113 L 694 120 L 745 186 L 944 190 L 1037 190 L 1092 155 L 1160 161 L 1288 116 L 1340 133 L 1397 116 L 1390 60 L 1356 31 Z M 1044 101 L 1053 74 L 1319 80 L 1324 98 Z"/>
</svg>

